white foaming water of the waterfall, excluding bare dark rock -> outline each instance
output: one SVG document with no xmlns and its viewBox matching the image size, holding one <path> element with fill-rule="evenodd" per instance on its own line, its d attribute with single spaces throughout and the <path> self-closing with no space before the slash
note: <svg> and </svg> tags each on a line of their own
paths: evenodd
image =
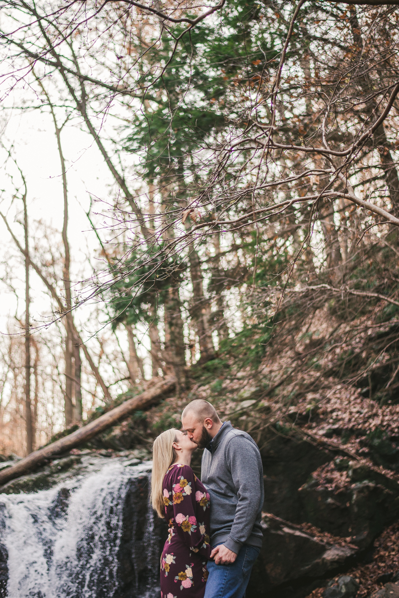
<svg viewBox="0 0 399 598">
<path fill-rule="evenodd" d="M 8 596 L 118 596 L 118 549 L 125 498 L 132 478 L 148 469 L 148 464 L 124 467 L 113 460 L 78 482 L 75 479 L 33 494 L 1 495 L 1 542 L 8 550 Z M 64 499 L 60 499 L 60 492 Z M 158 559 L 152 554 L 157 551 L 153 530 L 150 509 L 143 551 L 151 562 L 154 557 Z M 134 554 L 131 560 L 136 565 Z M 154 591 L 147 593 L 151 598 L 156 596 L 155 579 L 154 584 Z"/>
</svg>

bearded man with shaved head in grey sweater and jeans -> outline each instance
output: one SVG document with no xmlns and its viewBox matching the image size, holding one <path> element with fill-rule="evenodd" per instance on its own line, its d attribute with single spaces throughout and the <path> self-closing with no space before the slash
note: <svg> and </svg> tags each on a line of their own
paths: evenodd
<svg viewBox="0 0 399 598">
<path fill-rule="evenodd" d="M 205 598 L 243 598 L 262 546 L 263 469 L 249 434 L 222 423 L 202 399 L 182 413 L 188 437 L 205 449 L 201 481 L 211 497 L 211 560 Z M 213 560 L 212 560 L 213 559 Z"/>
</svg>

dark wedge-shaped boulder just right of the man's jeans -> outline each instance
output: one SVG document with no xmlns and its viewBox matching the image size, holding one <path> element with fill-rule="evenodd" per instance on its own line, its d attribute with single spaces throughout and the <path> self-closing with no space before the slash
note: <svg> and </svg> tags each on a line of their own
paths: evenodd
<svg viewBox="0 0 399 598">
<path fill-rule="evenodd" d="M 263 547 L 248 588 L 251 597 L 268 596 L 278 587 L 285 587 L 286 595 L 294 596 L 295 588 L 309 587 L 315 579 L 350 562 L 357 553 L 352 547 L 322 542 L 274 515 L 266 515 L 262 527 Z"/>
</svg>

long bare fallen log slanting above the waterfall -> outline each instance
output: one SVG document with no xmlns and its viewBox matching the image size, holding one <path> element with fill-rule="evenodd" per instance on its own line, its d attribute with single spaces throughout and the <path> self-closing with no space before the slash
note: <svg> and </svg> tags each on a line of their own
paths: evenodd
<svg viewBox="0 0 399 598">
<path fill-rule="evenodd" d="M 24 475 L 32 469 L 35 469 L 41 463 L 43 463 L 48 457 L 56 454 L 65 453 L 70 449 L 74 449 L 79 444 L 87 442 L 100 432 L 103 432 L 107 428 L 115 425 L 119 421 L 125 419 L 136 409 L 148 408 L 155 402 L 159 401 L 167 392 L 173 390 L 176 386 L 176 377 L 165 376 L 148 390 L 140 393 L 140 395 L 134 396 L 133 399 L 128 399 L 118 407 L 115 407 L 98 417 L 94 422 L 90 422 L 87 426 L 82 426 L 72 434 L 69 434 L 54 443 L 48 444 L 42 449 L 36 450 L 33 453 L 28 454 L 27 457 L 21 459 L 16 465 L 12 465 L 7 469 L 0 471 L 0 486 L 10 480 L 14 480 L 20 475 Z"/>
</svg>

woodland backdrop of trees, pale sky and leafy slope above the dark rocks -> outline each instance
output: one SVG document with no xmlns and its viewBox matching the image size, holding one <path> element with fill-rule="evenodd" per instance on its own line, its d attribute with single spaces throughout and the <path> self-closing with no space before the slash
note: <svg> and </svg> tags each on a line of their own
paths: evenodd
<svg viewBox="0 0 399 598">
<path fill-rule="evenodd" d="M 204 396 L 258 438 L 397 432 L 397 7 L 15 0 L 0 29 L 0 452 L 168 373 L 155 431 Z"/>
</svg>

